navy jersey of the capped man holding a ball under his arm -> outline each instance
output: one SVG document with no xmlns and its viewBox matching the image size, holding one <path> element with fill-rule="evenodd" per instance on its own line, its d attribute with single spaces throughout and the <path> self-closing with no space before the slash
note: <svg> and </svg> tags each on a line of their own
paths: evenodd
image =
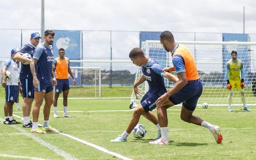
<svg viewBox="0 0 256 160">
<path fill-rule="evenodd" d="M 34 55 L 35 46 L 31 43 L 22 45 L 20 48 L 20 53 L 29 53 L 31 57 Z M 20 70 L 20 79 L 33 79 L 33 76 L 31 74 L 30 65 L 25 65 L 21 63 L 21 70 Z"/>
</svg>

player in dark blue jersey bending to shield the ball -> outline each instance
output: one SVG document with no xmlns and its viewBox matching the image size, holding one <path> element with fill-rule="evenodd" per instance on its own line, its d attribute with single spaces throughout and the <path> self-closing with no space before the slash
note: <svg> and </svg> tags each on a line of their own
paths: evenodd
<svg viewBox="0 0 256 160">
<path fill-rule="evenodd" d="M 132 132 L 132 129 L 138 124 L 141 115 L 150 120 L 158 129 L 158 135 L 154 139 L 161 138 L 160 125 L 158 123 L 157 117 L 152 113 L 152 110 L 156 107 L 156 100 L 163 94 L 166 93 L 164 78 L 168 78 L 172 82 L 177 82 L 179 79 L 168 72 L 162 72 L 164 69 L 160 64 L 155 60 L 148 58 L 144 55 L 144 52 L 140 48 L 134 48 L 129 54 L 130 59 L 133 64 L 141 66 L 143 75 L 135 84 L 133 85 L 134 94 L 141 95 L 141 92 L 138 89 L 138 85 L 147 81 L 149 85 L 149 90 L 141 99 L 141 103 L 135 108 L 133 112 L 132 119 L 130 120 L 126 130 L 122 135 L 111 140 L 111 142 L 126 142 L 127 137 Z"/>
</svg>

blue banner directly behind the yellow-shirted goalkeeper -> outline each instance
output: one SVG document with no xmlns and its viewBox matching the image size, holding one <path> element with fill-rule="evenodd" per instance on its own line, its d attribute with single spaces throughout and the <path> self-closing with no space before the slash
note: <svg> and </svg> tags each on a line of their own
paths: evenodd
<svg viewBox="0 0 256 160">
<path fill-rule="evenodd" d="M 223 33 L 222 34 L 223 42 L 248 42 L 248 35 L 247 34 L 230 34 L 230 33 Z M 249 52 L 247 45 L 223 45 L 223 75 L 224 75 L 224 82 L 223 85 L 227 84 L 226 81 L 226 64 L 227 62 L 232 59 L 231 52 L 235 50 L 237 52 L 237 59 L 243 62 L 243 69 L 244 69 L 244 80 L 245 85 L 248 85 L 249 79 Z"/>
</svg>

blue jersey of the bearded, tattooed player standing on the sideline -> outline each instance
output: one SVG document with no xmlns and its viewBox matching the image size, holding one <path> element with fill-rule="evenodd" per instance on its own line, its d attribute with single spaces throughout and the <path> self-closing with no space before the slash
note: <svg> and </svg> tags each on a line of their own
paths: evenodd
<svg viewBox="0 0 256 160">
<path fill-rule="evenodd" d="M 44 43 L 38 44 L 33 58 L 38 60 L 36 64 L 37 79 L 41 82 L 51 82 L 53 47 L 51 45 L 47 47 Z"/>
</svg>

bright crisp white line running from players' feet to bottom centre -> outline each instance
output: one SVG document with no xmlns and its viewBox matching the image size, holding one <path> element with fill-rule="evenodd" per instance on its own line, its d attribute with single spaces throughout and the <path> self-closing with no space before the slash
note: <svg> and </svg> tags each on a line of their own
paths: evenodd
<svg viewBox="0 0 256 160">
<path fill-rule="evenodd" d="M 20 118 L 20 119 L 23 120 L 23 118 L 20 117 L 20 116 L 17 116 L 17 115 L 13 115 L 13 116 L 16 116 L 17 118 Z M 38 125 L 42 126 L 41 124 L 38 124 Z M 100 147 L 100 146 L 98 146 L 98 145 L 92 144 L 92 143 L 87 142 L 87 141 L 85 141 L 85 140 L 81 140 L 81 139 L 79 139 L 79 138 L 76 138 L 76 137 L 74 137 L 74 136 L 68 135 L 68 134 L 66 134 L 66 133 L 61 133 L 60 131 L 55 131 L 55 132 L 56 132 L 56 133 L 59 133 L 60 135 L 64 135 L 64 136 L 67 136 L 67 137 L 69 137 L 69 138 L 72 138 L 73 140 L 77 140 L 77 141 L 79 141 L 79 142 L 81 142 L 81 143 L 83 143 L 83 144 L 90 145 L 91 147 L 94 147 L 94 148 L 96 148 L 96 149 L 99 149 L 100 151 L 103 151 L 104 153 L 108 153 L 108 154 L 110 154 L 110 155 L 113 155 L 113 156 L 116 156 L 116 157 L 118 157 L 118 158 L 121 158 L 122 160 L 132 160 L 132 159 L 130 159 L 130 158 L 128 158 L 128 157 L 119 155 L 118 153 L 115 153 L 115 152 L 112 152 L 112 151 L 108 151 L 107 149 L 105 149 L 105 148 L 103 148 L 103 147 Z M 30 134 L 30 135 L 31 135 L 31 134 Z M 69 158 L 69 159 L 71 159 L 71 158 Z M 72 158 L 72 160 L 74 160 L 74 158 Z"/>
</svg>

